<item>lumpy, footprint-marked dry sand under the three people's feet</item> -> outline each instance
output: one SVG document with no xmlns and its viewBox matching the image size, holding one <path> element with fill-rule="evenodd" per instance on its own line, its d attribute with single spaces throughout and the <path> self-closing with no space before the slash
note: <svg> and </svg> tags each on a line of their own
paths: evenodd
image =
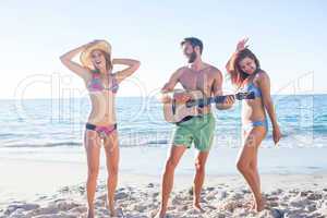
<svg viewBox="0 0 327 218">
<path fill-rule="evenodd" d="M 149 182 L 153 181 L 153 182 Z M 262 177 L 267 209 L 249 209 L 251 194 L 240 175 L 207 177 L 202 192 L 205 213 L 192 208 L 192 177 L 177 175 L 168 217 L 326 217 L 327 174 L 264 174 Z M 189 186 L 189 189 L 185 189 Z M 153 217 L 159 206 L 159 178 L 123 174 L 116 199 L 120 217 Z M 106 184 L 100 181 L 96 193 L 97 217 L 108 217 Z M 13 201 L 3 205 L 0 217 L 86 217 L 84 183 L 62 186 L 51 195 L 34 201 Z"/>
</svg>

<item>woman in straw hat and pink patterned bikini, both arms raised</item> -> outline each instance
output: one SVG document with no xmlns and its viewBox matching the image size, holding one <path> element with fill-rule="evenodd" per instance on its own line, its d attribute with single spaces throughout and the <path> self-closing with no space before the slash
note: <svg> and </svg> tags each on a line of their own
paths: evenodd
<svg viewBox="0 0 327 218">
<path fill-rule="evenodd" d="M 78 64 L 72 59 L 81 52 Z M 84 145 L 87 155 L 87 202 L 88 217 L 94 217 L 94 196 L 99 171 L 100 145 L 104 143 L 108 171 L 108 207 L 116 216 L 114 191 L 118 181 L 119 146 L 116 124 L 114 98 L 121 81 L 133 74 L 140 62 L 131 59 L 112 59 L 111 46 L 106 40 L 94 40 L 73 49 L 62 57 L 61 62 L 81 76 L 89 93 L 92 111 L 86 123 Z M 126 69 L 112 73 L 114 64 L 128 65 Z"/>
</svg>

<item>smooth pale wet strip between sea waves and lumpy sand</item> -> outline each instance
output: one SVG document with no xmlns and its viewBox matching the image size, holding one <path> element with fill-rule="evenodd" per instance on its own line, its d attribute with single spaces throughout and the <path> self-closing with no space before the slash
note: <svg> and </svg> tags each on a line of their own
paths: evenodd
<svg viewBox="0 0 327 218">
<path fill-rule="evenodd" d="M 84 182 L 86 178 L 87 165 L 83 147 L 5 150 L 0 149 L 0 195 L 3 191 L 19 197 L 25 194 L 31 196 L 56 192 L 61 186 Z M 167 150 L 167 147 L 122 147 L 120 174 L 144 175 L 150 178 L 149 181 L 159 182 L 155 179 L 161 177 Z M 238 150 L 213 149 L 208 157 L 206 174 L 209 178 L 239 175 L 234 166 Z M 259 173 L 325 175 L 326 152 L 327 148 L 263 148 L 259 153 Z M 107 175 L 104 153 L 100 158 L 99 179 L 104 180 Z M 192 178 L 193 173 L 194 149 L 191 149 L 182 157 L 175 174 Z"/>
</svg>

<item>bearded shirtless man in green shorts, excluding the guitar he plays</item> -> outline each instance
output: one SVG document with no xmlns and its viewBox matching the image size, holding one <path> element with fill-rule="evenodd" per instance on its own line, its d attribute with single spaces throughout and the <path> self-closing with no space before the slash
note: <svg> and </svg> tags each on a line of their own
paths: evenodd
<svg viewBox="0 0 327 218">
<path fill-rule="evenodd" d="M 161 101 L 165 104 L 174 100 L 178 104 L 184 104 L 192 99 L 194 90 L 201 92 L 203 97 L 222 95 L 222 74 L 221 72 L 202 61 L 203 43 L 194 37 L 184 38 L 181 43 L 184 56 L 189 64 L 178 69 L 170 77 L 169 82 L 162 87 Z M 174 93 L 175 85 L 180 83 L 184 92 Z M 222 104 L 216 104 L 220 110 L 229 109 L 234 104 L 234 97 L 228 96 Z M 162 175 L 161 204 L 157 217 L 166 216 L 168 199 L 173 186 L 174 169 L 180 161 L 183 153 L 194 144 L 196 148 L 195 178 L 193 185 L 195 209 L 203 210 L 201 202 L 201 190 L 205 178 L 205 164 L 213 144 L 215 132 L 215 118 L 211 113 L 210 105 L 197 108 L 198 116 L 185 117 L 177 123 L 172 146 L 165 167 Z"/>
</svg>

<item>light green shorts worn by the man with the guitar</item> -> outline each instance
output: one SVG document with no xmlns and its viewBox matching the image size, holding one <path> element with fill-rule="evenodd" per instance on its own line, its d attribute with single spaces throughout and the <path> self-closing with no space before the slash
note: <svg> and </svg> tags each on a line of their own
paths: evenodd
<svg viewBox="0 0 327 218">
<path fill-rule="evenodd" d="M 214 141 L 215 123 L 213 113 L 197 116 L 179 123 L 174 130 L 172 143 L 174 146 L 182 145 L 187 148 L 194 143 L 198 150 L 208 152 Z"/>
</svg>

